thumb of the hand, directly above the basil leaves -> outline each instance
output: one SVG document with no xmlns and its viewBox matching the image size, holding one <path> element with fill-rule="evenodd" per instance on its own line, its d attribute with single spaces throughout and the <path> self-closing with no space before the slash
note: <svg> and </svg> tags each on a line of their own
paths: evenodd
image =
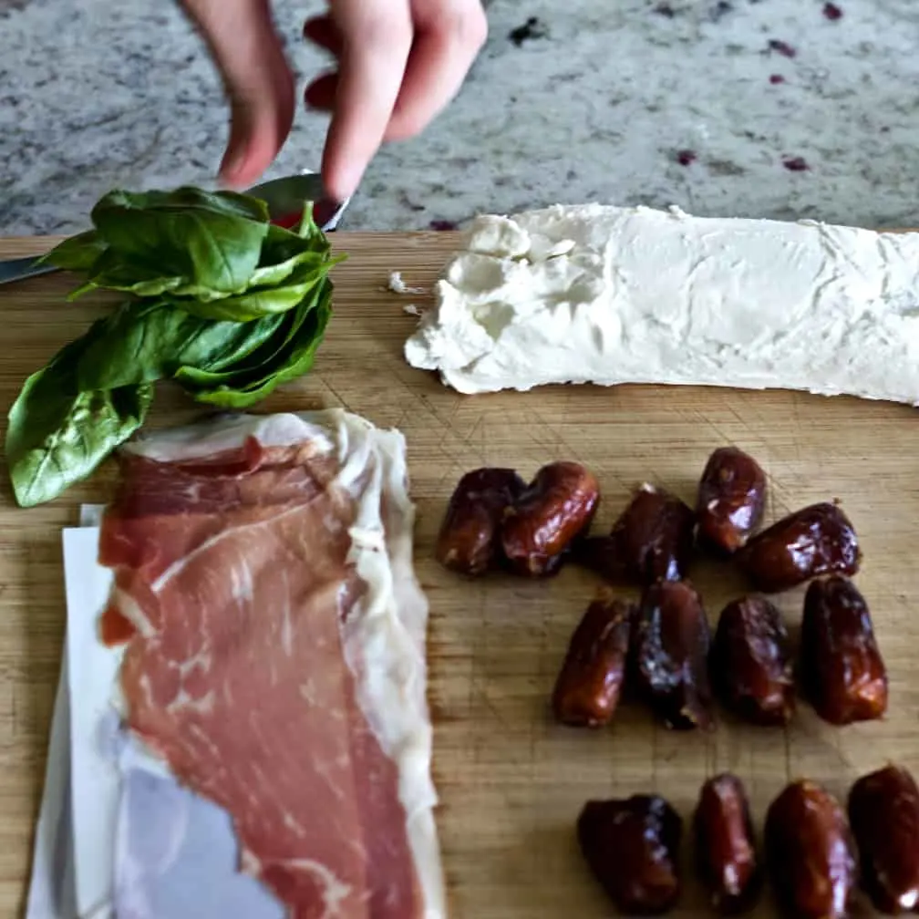
<svg viewBox="0 0 919 919">
<path fill-rule="evenodd" d="M 294 76 L 267 0 L 184 0 L 208 43 L 230 99 L 221 179 L 251 185 L 278 155 L 295 110 Z"/>
</svg>

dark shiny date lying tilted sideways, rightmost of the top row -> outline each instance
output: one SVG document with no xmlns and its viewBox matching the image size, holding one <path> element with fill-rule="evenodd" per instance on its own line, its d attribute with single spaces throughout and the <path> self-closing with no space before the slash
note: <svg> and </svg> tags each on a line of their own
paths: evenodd
<svg viewBox="0 0 919 919">
<path fill-rule="evenodd" d="M 821 574 L 855 574 L 861 563 L 856 531 L 839 507 L 805 507 L 754 536 L 737 561 L 758 590 L 776 594 Z"/>
</svg>

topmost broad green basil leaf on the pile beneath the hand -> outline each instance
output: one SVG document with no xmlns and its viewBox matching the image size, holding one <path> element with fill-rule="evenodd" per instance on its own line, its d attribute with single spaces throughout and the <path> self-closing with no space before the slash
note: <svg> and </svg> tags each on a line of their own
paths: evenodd
<svg viewBox="0 0 919 919">
<path fill-rule="evenodd" d="M 170 289 L 201 299 L 246 288 L 269 226 L 264 201 L 198 188 L 113 191 L 96 204 L 92 217 L 126 265 L 161 278 L 182 278 L 180 288 Z M 89 278 L 96 286 L 102 286 L 101 279 Z"/>
</svg>

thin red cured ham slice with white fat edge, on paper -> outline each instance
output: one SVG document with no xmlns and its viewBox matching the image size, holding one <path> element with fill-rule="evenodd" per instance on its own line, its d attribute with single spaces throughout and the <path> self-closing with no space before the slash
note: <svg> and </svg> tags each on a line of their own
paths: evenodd
<svg viewBox="0 0 919 919">
<path fill-rule="evenodd" d="M 403 437 L 232 416 L 120 465 L 101 633 L 130 730 L 294 919 L 444 915 Z"/>
</svg>

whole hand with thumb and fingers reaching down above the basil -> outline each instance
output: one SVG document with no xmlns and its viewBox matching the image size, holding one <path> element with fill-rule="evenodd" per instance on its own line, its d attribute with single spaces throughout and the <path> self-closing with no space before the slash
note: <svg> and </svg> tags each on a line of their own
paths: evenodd
<svg viewBox="0 0 919 919">
<path fill-rule="evenodd" d="M 217 63 L 231 104 L 221 179 L 252 185 L 293 124 L 295 81 L 268 0 L 182 0 Z M 351 195 L 384 141 L 423 130 L 459 91 L 484 43 L 480 0 L 330 0 L 304 34 L 331 51 L 335 73 L 306 90 L 332 113 L 323 153 L 326 192 Z"/>
</svg>

